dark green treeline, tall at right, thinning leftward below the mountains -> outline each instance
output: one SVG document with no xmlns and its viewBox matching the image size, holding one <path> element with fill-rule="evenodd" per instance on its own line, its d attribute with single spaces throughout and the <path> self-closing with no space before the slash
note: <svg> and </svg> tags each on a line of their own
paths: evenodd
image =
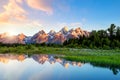
<svg viewBox="0 0 120 80">
<path fill-rule="evenodd" d="M 79 36 L 79 38 L 66 40 L 63 44 L 2 44 L 0 46 L 47 46 L 47 47 L 70 47 L 70 48 L 91 48 L 91 49 L 119 49 L 120 48 L 120 27 L 111 24 L 106 30 L 93 30 L 89 37 Z"/>
</svg>

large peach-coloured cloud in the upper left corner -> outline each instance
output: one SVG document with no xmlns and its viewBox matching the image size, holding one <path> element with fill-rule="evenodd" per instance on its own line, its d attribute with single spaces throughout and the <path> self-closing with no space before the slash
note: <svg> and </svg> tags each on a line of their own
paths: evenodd
<svg viewBox="0 0 120 80">
<path fill-rule="evenodd" d="M 0 23 L 26 19 L 27 12 L 17 1 L 18 0 L 9 0 L 8 4 L 3 5 L 4 11 L 0 13 Z"/>
</svg>

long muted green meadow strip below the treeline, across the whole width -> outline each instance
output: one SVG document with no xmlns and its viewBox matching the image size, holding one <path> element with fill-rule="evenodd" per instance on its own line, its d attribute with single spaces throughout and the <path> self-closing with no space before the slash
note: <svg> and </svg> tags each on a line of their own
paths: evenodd
<svg viewBox="0 0 120 80">
<path fill-rule="evenodd" d="M 2 46 L 0 53 L 47 53 L 47 54 L 64 54 L 64 55 L 120 55 L 120 50 L 100 50 L 100 49 L 77 49 L 77 48 L 60 48 L 60 47 L 42 47 L 35 45 L 23 46 Z"/>
</svg>

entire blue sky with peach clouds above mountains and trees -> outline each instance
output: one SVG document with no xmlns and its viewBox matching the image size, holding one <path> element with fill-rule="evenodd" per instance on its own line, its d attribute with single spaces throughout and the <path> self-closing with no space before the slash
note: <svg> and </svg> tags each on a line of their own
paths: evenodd
<svg viewBox="0 0 120 80">
<path fill-rule="evenodd" d="M 120 0 L 0 0 L 0 33 L 32 36 L 40 30 L 120 26 Z"/>
</svg>

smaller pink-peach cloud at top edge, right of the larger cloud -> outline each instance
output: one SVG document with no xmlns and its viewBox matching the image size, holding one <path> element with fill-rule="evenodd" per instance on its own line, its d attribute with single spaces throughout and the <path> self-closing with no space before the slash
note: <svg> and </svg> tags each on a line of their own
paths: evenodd
<svg viewBox="0 0 120 80">
<path fill-rule="evenodd" d="M 26 0 L 29 7 L 44 11 L 48 14 L 53 13 L 51 4 L 53 0 Z"/>
</svg>

